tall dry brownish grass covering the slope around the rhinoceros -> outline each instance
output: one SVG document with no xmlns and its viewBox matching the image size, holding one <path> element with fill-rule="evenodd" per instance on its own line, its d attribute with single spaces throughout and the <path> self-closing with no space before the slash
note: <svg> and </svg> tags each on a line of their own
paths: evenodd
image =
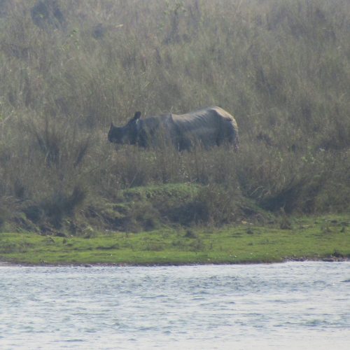
<svg viewBox="0 0 350 350">
<path fill-rule="evenodd" d="M 349 213 L 349 27 L 346 0 L 0 1 L 1 230 Z M 238 153 L 107 141 L 135 111 L 209 105 L 237 118 Z"/>
</svg>

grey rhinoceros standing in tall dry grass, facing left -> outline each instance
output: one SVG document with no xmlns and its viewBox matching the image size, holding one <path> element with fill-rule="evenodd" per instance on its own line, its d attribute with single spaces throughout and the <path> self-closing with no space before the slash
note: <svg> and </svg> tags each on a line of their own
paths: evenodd
<svg viewBox="0 0 350 350">
<path fill-rule="evenodd" d="M 201 144 L 204 148 L 231 144 L 238 148 L 238 127 L 235 118 L 220 107 L 176 115 L 173 113 L 141 119 L 136 112 L 124 127 L 111 123 L 108 134 L 114 144 L 130 144 L 143 148 L 172 144 L 179 151 Z"/>
</svg>

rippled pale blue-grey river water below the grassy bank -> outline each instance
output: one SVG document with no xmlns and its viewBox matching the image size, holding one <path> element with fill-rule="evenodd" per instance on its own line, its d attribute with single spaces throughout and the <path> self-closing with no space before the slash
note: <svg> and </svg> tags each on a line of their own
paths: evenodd
<svg viewBox="0 0 350 350">
<path fill-rule="evenodd" d="M 0 349 L 349 349 L 350 262 L 0 266 Z"/>
</svg>

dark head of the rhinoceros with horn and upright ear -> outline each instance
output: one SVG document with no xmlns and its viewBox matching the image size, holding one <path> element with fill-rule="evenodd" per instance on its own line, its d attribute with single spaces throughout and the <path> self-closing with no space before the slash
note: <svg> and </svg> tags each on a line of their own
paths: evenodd
<svg viewBox="0 0 350 350">
<path fill-rule="evenodd" d="M 141 112 L 136 112 L 134 118 L 130 119 L 127 125 L 124 127 L 116 127 L 111 123 L 109 129 L 108 139 L 113 144 L 137 144 L 137 137 L 139 134 L 139 119 L 141 118 Z"/>
</svg>

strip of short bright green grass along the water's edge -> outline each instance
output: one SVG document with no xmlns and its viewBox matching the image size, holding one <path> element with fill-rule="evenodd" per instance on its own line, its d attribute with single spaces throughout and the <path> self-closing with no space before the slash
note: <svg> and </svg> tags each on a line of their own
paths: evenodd
<svg viewBox="0 0 350 350">
<path fill-rule="evenodd" d="M 215 230 L 165 228 L 90 237 L 1 233 L 0 260 L 33 265 L 183 265 L 350 258 L 349 225 L 349 216 L 323 216 L 295 218 L 290 230 L 241 223 Z"/>
</svg>

